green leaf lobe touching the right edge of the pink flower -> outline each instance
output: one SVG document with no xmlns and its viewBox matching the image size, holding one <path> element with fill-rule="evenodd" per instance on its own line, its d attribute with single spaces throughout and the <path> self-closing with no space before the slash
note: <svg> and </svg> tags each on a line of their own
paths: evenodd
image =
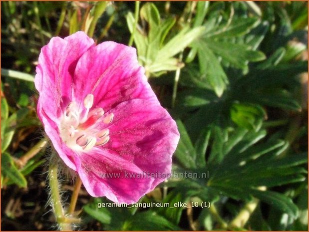
<svg viewBox="0 0 309 232">
<path fill-rule="evenodd" d="M 196 152 L 192 145 L 186 128 L 180 120 L 176 120 L 178 131 L 180 133 L 180 140 L 175 151 L 175 157 L 185 168 L 194 168 Z"/>
</svg>

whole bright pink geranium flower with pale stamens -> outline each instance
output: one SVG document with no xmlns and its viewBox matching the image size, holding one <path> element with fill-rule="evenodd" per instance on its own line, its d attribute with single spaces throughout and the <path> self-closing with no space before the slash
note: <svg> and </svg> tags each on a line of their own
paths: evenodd
<svg viewBox="0 0 309 232">
<path fill-rule="evenodd" d="M 179 133 L 134 48 L 76 32 L 53 37 L 38 63 L 38 117 L 91 196 L 131 204 L 169 177 Z"/>
</svg>

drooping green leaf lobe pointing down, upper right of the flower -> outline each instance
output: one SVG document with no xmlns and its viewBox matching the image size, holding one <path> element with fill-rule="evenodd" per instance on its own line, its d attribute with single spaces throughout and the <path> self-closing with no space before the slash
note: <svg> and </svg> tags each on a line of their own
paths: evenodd
<svg viewBox="0 0 309 232">
<path fill-rule="evenodd" d="M 198 48 L 200 71 L 205 76 L 217 96 L 221 96 L 228 84 L 228 78 L 218 60 L 208 45 L 202 41 L 196 41 L 193 47 Z"/>
</svg>

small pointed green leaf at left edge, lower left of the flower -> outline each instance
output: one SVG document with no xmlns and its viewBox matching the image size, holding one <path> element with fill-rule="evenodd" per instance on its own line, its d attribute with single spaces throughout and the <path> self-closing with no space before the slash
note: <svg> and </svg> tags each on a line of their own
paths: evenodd
<svg viewBox="0 0 309 232">
<path fill-rule="evenodd" d="M 1 155 L 1 172 L 19 187 L 26 187 L 27 181 L 14 165 L 11 156 L 4 152 Z"/>
</svg>

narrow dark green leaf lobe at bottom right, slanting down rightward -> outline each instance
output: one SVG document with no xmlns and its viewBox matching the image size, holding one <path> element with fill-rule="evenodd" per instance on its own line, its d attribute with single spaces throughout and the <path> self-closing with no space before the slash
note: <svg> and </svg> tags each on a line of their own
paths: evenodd
<svg viewBox="0 0 309 232">
<path fill-rule="evenodd" d="M 252 194 L 254 197 L 260 199 L 261 201 L 274 206 L 280 211 L 287 213 L 289 216 L 293 218 L 298 217 L 298 208 L 293 203 L 293 201 L 286 197 L 283 194 L 276 193 L 273 191 L 259 191 L 251 189 L 248 191 L 249 194 Z"/>
</svg>

